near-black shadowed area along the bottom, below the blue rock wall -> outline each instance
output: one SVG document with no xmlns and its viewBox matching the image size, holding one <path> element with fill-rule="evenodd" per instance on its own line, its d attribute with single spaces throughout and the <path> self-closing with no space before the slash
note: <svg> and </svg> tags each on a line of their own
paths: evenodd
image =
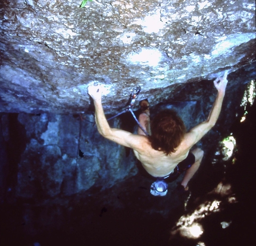
<svg viewBox="0 0 256 246">
<path fill-rule="evenodd" d="M 207 246 L 254 246 L 255 115 L 254 103 L 248 109 L 246 121 L 233 125 L 233 135 L 238 143 L 235 165 L 227 163 L 225 172 L 217 169 L 210 173 L 202 169 L 193 179 L 188 210 L 184 210 L 186 197 L 174 195 L 177 193 L 176 182 L 169 185 L 166 197 L 153 197 L 149 195 L 152 181 L 139 172 L 108 190 L 91 188 L 68 199 L 45 200 L 45 206 L 37 205 L 40 197 L 5 204 L 1 207 L 1 245 L 30 246 L 39 242 L 41 246 L 195 246 L 201 241 Z M 238 202 L 227 203 L 223 198 L 223 210 L 202 220 L 204 233 L 200 239 L 176 236 L 170 240 L 171 228 L 180 216 L 195 209 L 199 204 L 198 197 L 201 201 L 217 198 L 208 192 L 223 178 L 232 184 Z M 38 223 L 30 221 L 32 210 L 38 215 Z M 43 216 L 50 219 L 41 225 Z M 222 221 L 232 223 L 223 229 Z"/>
</svg>

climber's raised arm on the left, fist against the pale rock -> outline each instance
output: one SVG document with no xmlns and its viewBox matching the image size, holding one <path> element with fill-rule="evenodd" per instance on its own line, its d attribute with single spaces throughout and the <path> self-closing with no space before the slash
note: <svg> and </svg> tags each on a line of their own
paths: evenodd
<svg viewBox="0 0 256 246">
<path fill-rule="evenodd" d="M 122 146 L 130 147 L 139 151 L 141 149 L 142 135 L 135 135 L 128 131 L 111 128 L 108 124 L 101 103 L 101 86 L 89 86 L 88 94 L 92 97 L 95 106 L 95 121 L 99 134 L 111 141 L 114 141 L 115 143 L 121 144 Z"/>
</svg>

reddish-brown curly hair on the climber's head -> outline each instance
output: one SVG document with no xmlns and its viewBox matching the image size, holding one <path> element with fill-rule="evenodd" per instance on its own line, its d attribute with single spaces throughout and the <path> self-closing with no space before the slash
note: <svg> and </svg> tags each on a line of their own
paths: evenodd
<svg viewBox="0 0 256 246">
<path fill-rule="evenodd" d="M 176 152 L 182 142 L 186 127 L 182 119 L 173 110 L 166 109 L 159 112 L 151 122 L 151 136 L 149 141 L 155 150 L 166 154 Z"/>
</svg>

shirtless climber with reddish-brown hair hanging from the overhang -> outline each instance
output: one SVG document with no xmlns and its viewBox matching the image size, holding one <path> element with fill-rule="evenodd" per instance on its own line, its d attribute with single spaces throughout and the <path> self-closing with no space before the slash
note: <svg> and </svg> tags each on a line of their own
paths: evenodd
<svg viewBox="0 0 256 246">
<path fill-rule="evenodd" d="M 199 148 L 190 150 L 216 124 L 226 85 L 227 71 L 223 78 L 214 80 L 218 94 L 208 119 L 193 127 L 188 133 L 186 133 L 182 119 L 174 111 L 166 110 L 158 113 L 149 124 L 148 102 L 142 100 L 143 112 L 139 116 L 139 122 L 148 133 L 151 129 L 149 136 L 146 136 L 140 129 L 137 135 L 110 128 L 101 104 L 101 87 L 89 86 L 88 93 L 95 105 L 95 121 L 99 133 L 115 143 L 132 148 L 146 172 L 156 179 L 151 185 L 151 194 L 166 195 L 165 179 L 182 171 L 186 172 L 181 185 L 185 190 L 188 190 L 188 182 L 198 170 L 204 155 L 204 152 Z"/>
</svg>

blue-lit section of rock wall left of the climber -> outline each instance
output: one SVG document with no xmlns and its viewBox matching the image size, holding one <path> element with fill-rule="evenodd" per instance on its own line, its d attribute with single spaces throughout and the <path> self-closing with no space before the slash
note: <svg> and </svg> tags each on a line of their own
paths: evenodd
<svg viewBox="0 0 256 246">
<path fill-rule="evenodd" d="M 79 194 L 136 174 L 133 156 L 126 158 L 121 146 L 107 143 L 91 122 L 79 122 L 72 115 L 18 115 L 26 149 L 18 163 L 17 197 Z"/>
</svg>

